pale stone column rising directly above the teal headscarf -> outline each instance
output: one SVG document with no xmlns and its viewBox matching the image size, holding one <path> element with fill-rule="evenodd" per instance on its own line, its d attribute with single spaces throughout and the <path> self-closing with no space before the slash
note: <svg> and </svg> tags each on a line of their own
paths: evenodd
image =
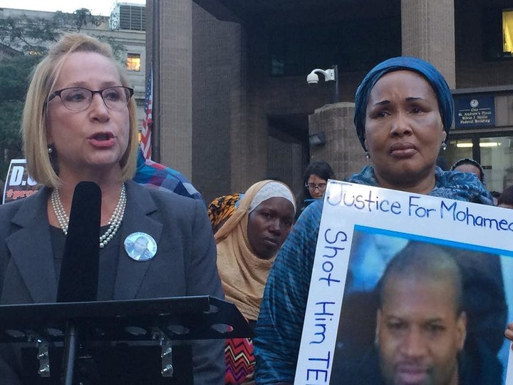
<svg viewBox="0 0 513 385">
<path fill-rule="evenodd" d="M 402 0 L 403 56 L 429 61 L 456 86 L 454 0 Z"/>
</svg>

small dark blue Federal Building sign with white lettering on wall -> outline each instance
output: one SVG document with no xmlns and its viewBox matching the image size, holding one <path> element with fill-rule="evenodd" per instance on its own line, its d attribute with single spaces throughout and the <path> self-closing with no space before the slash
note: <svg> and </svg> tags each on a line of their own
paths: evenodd
<svg viewBox="0 0 513 385">
<path fill-rule="evenodd" d="M 473 128 L 495 125 L 493 96 L 456 97 L 455 128 Z"/>
</svg>

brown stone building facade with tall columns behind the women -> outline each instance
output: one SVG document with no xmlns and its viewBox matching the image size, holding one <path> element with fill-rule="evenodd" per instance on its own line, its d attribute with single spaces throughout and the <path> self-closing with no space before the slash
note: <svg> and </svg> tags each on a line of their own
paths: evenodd
<svg viewBox="0 0 513 385">
<path fill-rule="evenodd" d="M 446 165 L 475 158 L 490 190 L 502 190 L 513 178 L 513 58 L 501 49 L 501 16 L 510 6 L 506 0 L 147 0 L 147 60 L 160 68 L 157 156 L 189 175 L 207 199 L 269 176 L 299 190 L 311 159 L 328 160 L 345 178 L 366 163 L 346 103 L 375 63 L 402 54 L 440 68 L 455 96 L 492 97 L 494 122 L 455 126 L 443 155 Z M 338 66 L 343 103 L 330 119 L 343 127 L 309 120 L 331 103 L 333 84 L 321 79 L 312 86 L 306 75 L 331 64 Z M 327 143 L 311 147 L 309 135 L 318 130 Z M 341 138 L 347 143 L 335 143 Z"/>
</svg>

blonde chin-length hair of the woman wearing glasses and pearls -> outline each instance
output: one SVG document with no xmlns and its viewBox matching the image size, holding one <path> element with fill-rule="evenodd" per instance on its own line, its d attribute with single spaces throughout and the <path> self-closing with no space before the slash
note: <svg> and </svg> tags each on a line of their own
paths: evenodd
<svg viewBox="0 0 513 385">
<path fill-rule="evenodd" d="M 28 173 L 39 183 L 57 188 L 62 181 L 58 177 L 56 156 L 48 154 L 48 96 L 54 91 L 64 61 L 74 52 L 99 53 L 109 58 L 118 68 L 121 85 L 128 87 L 128 78 L 118 62 L 112 48 L 98 39 L 84 34 L 64 34 L 48 55 L 38 63 L 28 86 L 21 129 L 23 130 L 24 152 Z M 133 178 L 138 151 L 138 128 L 134 98 L 128 103 L 130 138 L 128 148 L 120 160 L 123 181 Z"/>
</svg>

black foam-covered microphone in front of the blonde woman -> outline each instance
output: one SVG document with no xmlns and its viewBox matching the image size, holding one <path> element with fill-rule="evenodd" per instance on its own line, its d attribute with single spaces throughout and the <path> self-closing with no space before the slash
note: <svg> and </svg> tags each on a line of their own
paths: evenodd
<svg viewBox="0 0 513 385">
<path fill-rule="evenodd" d="M 78 183 L 71 202 L 57 302 L 97 299 L 100 217 L 100 187 L 93 182 Z"/>
</svg>

